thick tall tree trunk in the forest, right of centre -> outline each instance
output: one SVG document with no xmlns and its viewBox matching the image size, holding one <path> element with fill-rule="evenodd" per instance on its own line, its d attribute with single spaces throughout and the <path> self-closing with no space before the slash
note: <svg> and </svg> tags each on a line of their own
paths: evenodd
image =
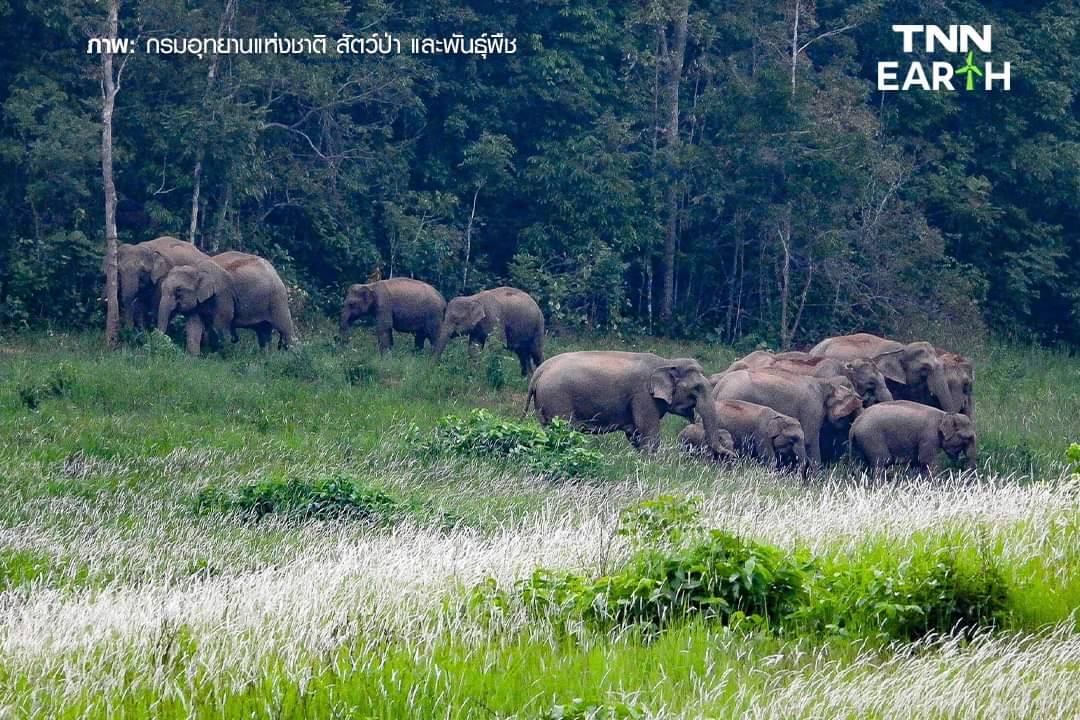
<svg viewBox="0 0 1080 720">
<path fill-rule="evenodd" d="M 670 321 L 675 307 L 675 253 L 678 245 L 678 188 L 676 182 L 676 164 L 678 161 L 678 95 L 683 80 L 683 63 L 686 56 L 687 23 L 690 14 L 690 0 L 679 0 L 674 8 L 674 35 L 667 42 L 666 32 L 661 37 L 663 47 L 662 60 L 664 73 L 663 105 L 665 118 L 664 145 L 667 164 L 667 187 L 664 189 L 664 206 L 667 210 L 667 227 L 664 232 L 663 255 L 663 295 L 660 298 L 660 317 Z"/>
</svg>

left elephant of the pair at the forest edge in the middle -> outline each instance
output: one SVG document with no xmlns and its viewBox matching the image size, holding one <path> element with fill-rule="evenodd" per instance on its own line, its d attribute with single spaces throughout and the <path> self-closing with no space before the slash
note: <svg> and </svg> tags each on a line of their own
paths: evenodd
<svg viewBox="0 0 1080 720">
<path fill-rule="evenodd" d="M 341 303 L 341 337 L 361 317 L 375 316 L 375 337 L 379 352 L 393 348 L 394 332 L 411 332 L 416 349 L 424 341 L 434 344 L 443 322 L 446 300 L 427 283 L 409 277 L 392 277 L 374 283 L 351 285 Z"/>
</svg>

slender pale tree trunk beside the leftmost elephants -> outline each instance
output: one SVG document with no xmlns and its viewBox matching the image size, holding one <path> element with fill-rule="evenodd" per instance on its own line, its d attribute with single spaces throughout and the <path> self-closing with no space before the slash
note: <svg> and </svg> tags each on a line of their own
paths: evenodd
<svg viewBox="0 0 1080 720">
<path fill-rule="evenodd" d="M 109 0 L 106 30 L 114 41 L 120 26 L 120 0 Z M 113 43 L 102 53 L 102 182 L 105 188 L 105 344 L 116 348 L 120 338 L 117 298 L 117 186 L 112 179 L 112 111 L 120 90 L 112 74 Z"/>
</svg>

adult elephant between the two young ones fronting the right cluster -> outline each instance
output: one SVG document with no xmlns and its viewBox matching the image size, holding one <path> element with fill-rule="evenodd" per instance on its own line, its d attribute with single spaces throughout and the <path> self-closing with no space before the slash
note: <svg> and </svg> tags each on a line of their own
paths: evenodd
<svg viewBox="0 0 1080 720">
<path fill-rule="evenodd" d="M 833 459 L 833 436 L 842 433 L 847 438 L 851 421 L 863 407 L 847 378 L 815 378 L 770 368 L 724 373 L 713 386 L 713 397 L 765 405 L 798 420 L 815 470 L 823 457 Z"/>
</svg>

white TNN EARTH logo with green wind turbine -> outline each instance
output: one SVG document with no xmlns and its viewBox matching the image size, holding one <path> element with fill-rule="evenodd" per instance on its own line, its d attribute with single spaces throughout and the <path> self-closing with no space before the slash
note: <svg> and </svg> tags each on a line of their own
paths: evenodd
<svg viewBox="0 0 1080 720">
<path fill-rule="evenodd" d="M 878 90 L 880 91 L 905 91 L 912 87 L 920 90 L 956 90 L 953 86 L 953 79 L 957 76 L 964 78 L 964 90 L 973 91 L 976 85 L 976 78 L 981 78 L 983 90 L 994 90 L 995 82 L 1001 83 L 1001 90 L 1012 89 L 1012 63 L 1002 63 L 1001 69 L 996 70 L 994 63 L 985 60 L 981 64 L 975 62 L 975 51 L 990 53 L 993 47 L 993 29 L 989 25 L 984 25 L 982 30 L 972 25 L 949 25 L 947 29 L 942 29 L 936 25 L 893 25 L 893 32 L 904 36 L 904 52 L 914 53 L 916 38 L 919 45 L 927 53 L 960 53 L 963 55 L 963 63 L 953 67 L 951 63 L 945 60 L 934 60 L 929 64 L 914 60 L 908 64 L 904 73 L 903 82 L 900 81 L 901 63 L 897 60 L 886 60 L 878 63 Z M 929 69 L 929 72 L 927 71 Z"/>
</svg>

